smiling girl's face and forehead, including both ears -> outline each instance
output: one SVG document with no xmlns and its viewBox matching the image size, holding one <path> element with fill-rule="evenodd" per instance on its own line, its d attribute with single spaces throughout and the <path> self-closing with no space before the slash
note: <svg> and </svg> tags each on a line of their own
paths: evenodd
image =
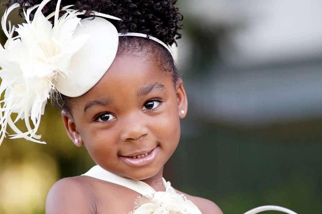
<svg viewBox="0 0 322 214">
<path fill-rule="evenodd" d="M 90 72 L 90 71 L 89 71 Z M 117 56 L 102 79 L 62 111 L 71 140 L 102 168 L 143 180 L 161 172 L 180 138 L 187 98 L 153 55 Z"/>
</svg>

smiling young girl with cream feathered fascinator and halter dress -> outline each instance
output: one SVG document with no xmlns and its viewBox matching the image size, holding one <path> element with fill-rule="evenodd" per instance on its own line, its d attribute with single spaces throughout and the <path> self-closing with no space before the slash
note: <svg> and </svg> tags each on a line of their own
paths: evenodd
<svg viewBox="0 0 322 214">
<path fill-rule="evenodd" d="M 222 213 L 162 178 L 188 107 L 168 47 L 181 37 L 176 0 L 15 2 L 8 12 L 21 6 L 27 23 L 16 29 L 18 37 L 4 27 L 2 128 L 8 124 L 14 138 L 43 143 L 35 132 L 51 95 L 62 104 L 71 141 L 97 163 L 55 183 L 46 213 Z M 25 119 L 27 132 L 15 127 L 12 112 Z"/>
</svg>

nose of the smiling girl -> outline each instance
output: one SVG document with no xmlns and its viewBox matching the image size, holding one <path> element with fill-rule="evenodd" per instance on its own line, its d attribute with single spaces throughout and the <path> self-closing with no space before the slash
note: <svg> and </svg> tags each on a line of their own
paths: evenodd
<svg viewBox="0 0 322 214">
<path fill-rule="evenodd" d="M 138 140 L 148 132 L 145 120 L 140 115 L 132 114 L 124 120 L 120 138 L 122 141 Z"/>
</svg>

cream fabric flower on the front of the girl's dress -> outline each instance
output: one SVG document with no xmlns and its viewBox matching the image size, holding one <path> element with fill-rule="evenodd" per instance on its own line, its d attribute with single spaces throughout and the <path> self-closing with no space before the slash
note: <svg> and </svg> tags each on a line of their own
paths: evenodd
<svg viewBox="0 0 322 214">
<path fill-rule="evenodd" d="M 129 214 L 201 214 L 193 202 L 183 194 L 156 192 L 152 196 L 139 196 Z"/>
</svg>

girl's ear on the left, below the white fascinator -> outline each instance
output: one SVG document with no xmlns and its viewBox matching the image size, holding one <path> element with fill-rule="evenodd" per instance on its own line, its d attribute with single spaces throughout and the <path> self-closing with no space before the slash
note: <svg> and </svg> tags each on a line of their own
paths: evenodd
<svg viewBox="0 0 322 214">
<path fill-rule="evenodd" d="M 71 141 L 77 147 L 83 146 L 83 141 L 81 140 L 81 136 L 78 133 L 74 120 L 71 117 L 71 114 L 65 110 L 62 110 L 62 120 L 64 122 L 67 135 L 71 139 Z"/>
</svg>

